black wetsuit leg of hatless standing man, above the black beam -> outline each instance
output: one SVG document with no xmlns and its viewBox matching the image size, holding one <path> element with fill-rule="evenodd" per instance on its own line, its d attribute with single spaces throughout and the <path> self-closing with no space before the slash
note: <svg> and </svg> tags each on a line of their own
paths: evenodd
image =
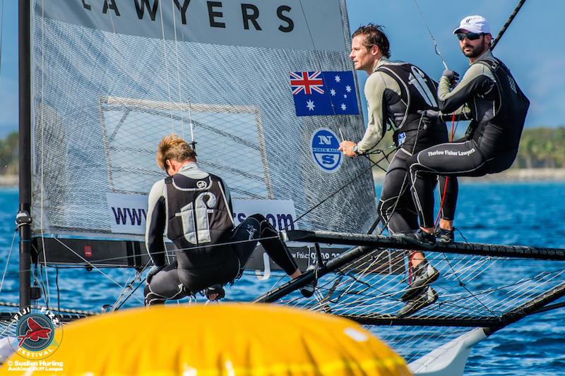
<svg viewBox="0 0 565 376">
<path fill-rule="evenodd" d="M 403 149 L 396 152 L 388 166 L 379 199 L 379 217 L 391 235 L 417 230 L 417 214 L 410 196 L 408 159 Z"/>
</svg>

